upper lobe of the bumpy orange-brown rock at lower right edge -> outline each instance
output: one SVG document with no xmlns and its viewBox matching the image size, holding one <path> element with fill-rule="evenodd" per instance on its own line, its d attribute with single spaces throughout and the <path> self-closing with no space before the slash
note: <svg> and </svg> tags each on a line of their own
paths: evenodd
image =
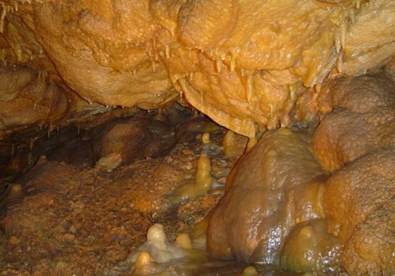
<svg viewBox="0 0 395 276">
<path fill-rule="evenodd" d="M 326 181 L 324 213 L 331 234 L 347 242 L 359 223 L 395 196 L 394 162 L 394 148 L 376 150 Z"/>
</svg>

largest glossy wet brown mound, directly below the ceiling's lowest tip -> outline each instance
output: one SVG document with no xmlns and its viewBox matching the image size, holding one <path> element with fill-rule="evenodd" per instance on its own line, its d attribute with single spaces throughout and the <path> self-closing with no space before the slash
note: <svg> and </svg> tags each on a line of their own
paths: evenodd
<svg viewBox="0 0 395 276">
<path fill-rule="evenodd" d="M 290 229 L 322 216 L 319 182 L 326 173 L 309 150 L 310 141 L 304 130 L 267 132 L 243 157 L 208 223 L 211 254 L 276 263 Z"/>
</svg>

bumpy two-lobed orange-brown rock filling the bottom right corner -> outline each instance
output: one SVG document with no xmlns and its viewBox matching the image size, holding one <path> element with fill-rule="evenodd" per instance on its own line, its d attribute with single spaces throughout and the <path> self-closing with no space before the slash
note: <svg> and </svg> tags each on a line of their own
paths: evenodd
<svg viewBox="0 0 395 276">
<path fill-rule="evenodd" d="M 345 244 L 342 266 L 352 275 L 394 274 L 395 150 L 370 152 L 325 184 L 329 233 Z"/>
</svg>

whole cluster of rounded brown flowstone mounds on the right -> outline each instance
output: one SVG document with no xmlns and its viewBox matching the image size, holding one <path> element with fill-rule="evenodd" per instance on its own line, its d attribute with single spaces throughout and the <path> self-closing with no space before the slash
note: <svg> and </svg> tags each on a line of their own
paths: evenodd
<svg viewBox="0 0 395 276">
<path fill-rule="evenodd" d="M 296 271 L 395 273 L 393 82 L 333 83 L 344 84 L 333 102 L 344 100 L 310 151 L 300 133 L 274 130 L 233 169 L 208 223 L 211 254 Z"/>
</svg>

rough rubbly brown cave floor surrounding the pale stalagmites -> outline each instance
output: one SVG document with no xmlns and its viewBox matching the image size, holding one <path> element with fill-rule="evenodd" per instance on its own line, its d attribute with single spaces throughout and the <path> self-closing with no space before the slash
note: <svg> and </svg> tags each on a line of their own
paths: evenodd
<svg viewBox="0 0 395 276">
<path fill-rule="evenodd" d="M 224 130 L 212 136 L 212 189 L 195 200 L 171 203 L 180 183 L 193 180 L 199 139 L 176 143 L 164 157 L 114 170 L 42 158 L 21 192 L 3 195 L 0 207 L 0 275 L 105 275 L 145 242 L 161 223 L 167 239 L 188 233 L 217 204 L 236 159 L 222 151 Z M 75 152 L 78 154 L 78 152 Z M 17 181 L 16 181 L 17 182 Z M 166 275 L 241 275 L 248 264 L 206 260 L 191 268 L 168 266 Z M 297 275 L 257 266 L 261 275 Z M 128 268 L 117 275 L 132 275 Z M 158 274 L 156 274 L 158 275 Z"/>
</svg>

